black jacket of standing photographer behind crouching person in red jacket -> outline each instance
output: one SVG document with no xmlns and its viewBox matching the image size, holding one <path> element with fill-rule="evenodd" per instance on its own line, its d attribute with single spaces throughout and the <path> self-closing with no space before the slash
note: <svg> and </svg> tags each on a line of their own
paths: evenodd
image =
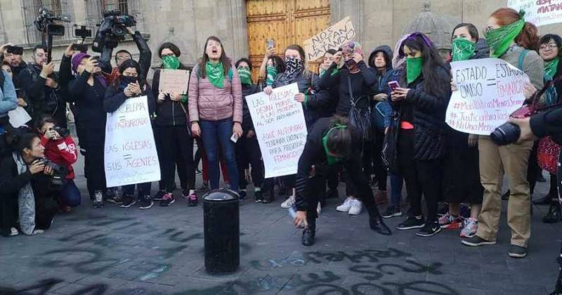
<svg viewBox="0 0 562 295">
<path fill-rule="evenodd" d="M 64 97 L 66 89 L 61 87 L 58 74 L 51 74 L 50 78 L 58 82 L 58 88 L 52 89 L 45 86 L 46 79 L 40 76 L 41 68 L 37 65 L 29 64 L 21 70 L 18 76 L 18 83 L 25 91 L 28 103 L 32 105 L 31 117 L 39 119 L 45 114 L 55 117 L 60 126 L 66 127 L 66 102 Z"/>
</svg>

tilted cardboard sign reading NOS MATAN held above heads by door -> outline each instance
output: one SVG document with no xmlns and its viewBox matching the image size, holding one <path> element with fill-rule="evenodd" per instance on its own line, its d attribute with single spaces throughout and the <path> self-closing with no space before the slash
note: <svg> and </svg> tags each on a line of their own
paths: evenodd
<svg viewBox="0 0 562 295">
<path fill-rule="evenodd" d="M 337 49 L 353 38 L 355 38 L 355 29 L 349 17 L 346 17 L 303 42 L 306 58 L 308 60 L 321 58 L 329 49 Z"/>
</svg>

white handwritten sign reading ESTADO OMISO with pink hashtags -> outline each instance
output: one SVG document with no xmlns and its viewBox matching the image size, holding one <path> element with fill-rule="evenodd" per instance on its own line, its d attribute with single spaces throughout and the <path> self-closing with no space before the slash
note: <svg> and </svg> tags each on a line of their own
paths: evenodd
<svg viewBox="0 0 562 295">
<path fill-rule="evenodd" d="M 457 84 L 447 107 L 446 122 L 464 133 L 490 135 L 523 105 L 529 78 L 498 58 L 451 63 Z"/>
</svg>

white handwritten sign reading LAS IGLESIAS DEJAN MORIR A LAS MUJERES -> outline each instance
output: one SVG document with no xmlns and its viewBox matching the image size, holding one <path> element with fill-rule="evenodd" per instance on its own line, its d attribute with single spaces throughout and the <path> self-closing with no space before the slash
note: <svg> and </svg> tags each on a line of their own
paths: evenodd
<svg viewBox="0 0 562 295">
<path fill-rule="evenodd" d="M 294 100 L 296 83 L 246 96 L 258 137 L 266 178 L 296 173 L 306 143 L 303 107 Z"/>
</svg>

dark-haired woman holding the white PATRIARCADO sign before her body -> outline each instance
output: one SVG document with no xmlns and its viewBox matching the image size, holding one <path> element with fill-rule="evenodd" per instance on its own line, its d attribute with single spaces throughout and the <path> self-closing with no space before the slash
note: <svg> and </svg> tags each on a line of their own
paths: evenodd
<svg viewBox="0 0 562 295">
<path fill-rule="evenodd" d="M 136 60 L 125 60 L 119 66 L 119 76 L 113 84 L 107 88 L 105 98 L 103 100 L 103 107 L 106 112 L 115 112 L 125 102 L 127 98 L 138 96 L 146 96 L 148 99 L 148 113 L 154 113 L 155 99 L 150 91 L 150 87 L 146 81 L 142 80 L 145 77 L 141 71 L 141 65 Z M 138 202 L 141 204 L 138 209 L 149 209 L 154 205 L 152 197 L 150 196 L 150 183 L 138 183 Z M 123 201 L 122 208 L 129 208 L 136 204 L 134 197 L 135 185 L 123 186 Z"/>
</svg>

